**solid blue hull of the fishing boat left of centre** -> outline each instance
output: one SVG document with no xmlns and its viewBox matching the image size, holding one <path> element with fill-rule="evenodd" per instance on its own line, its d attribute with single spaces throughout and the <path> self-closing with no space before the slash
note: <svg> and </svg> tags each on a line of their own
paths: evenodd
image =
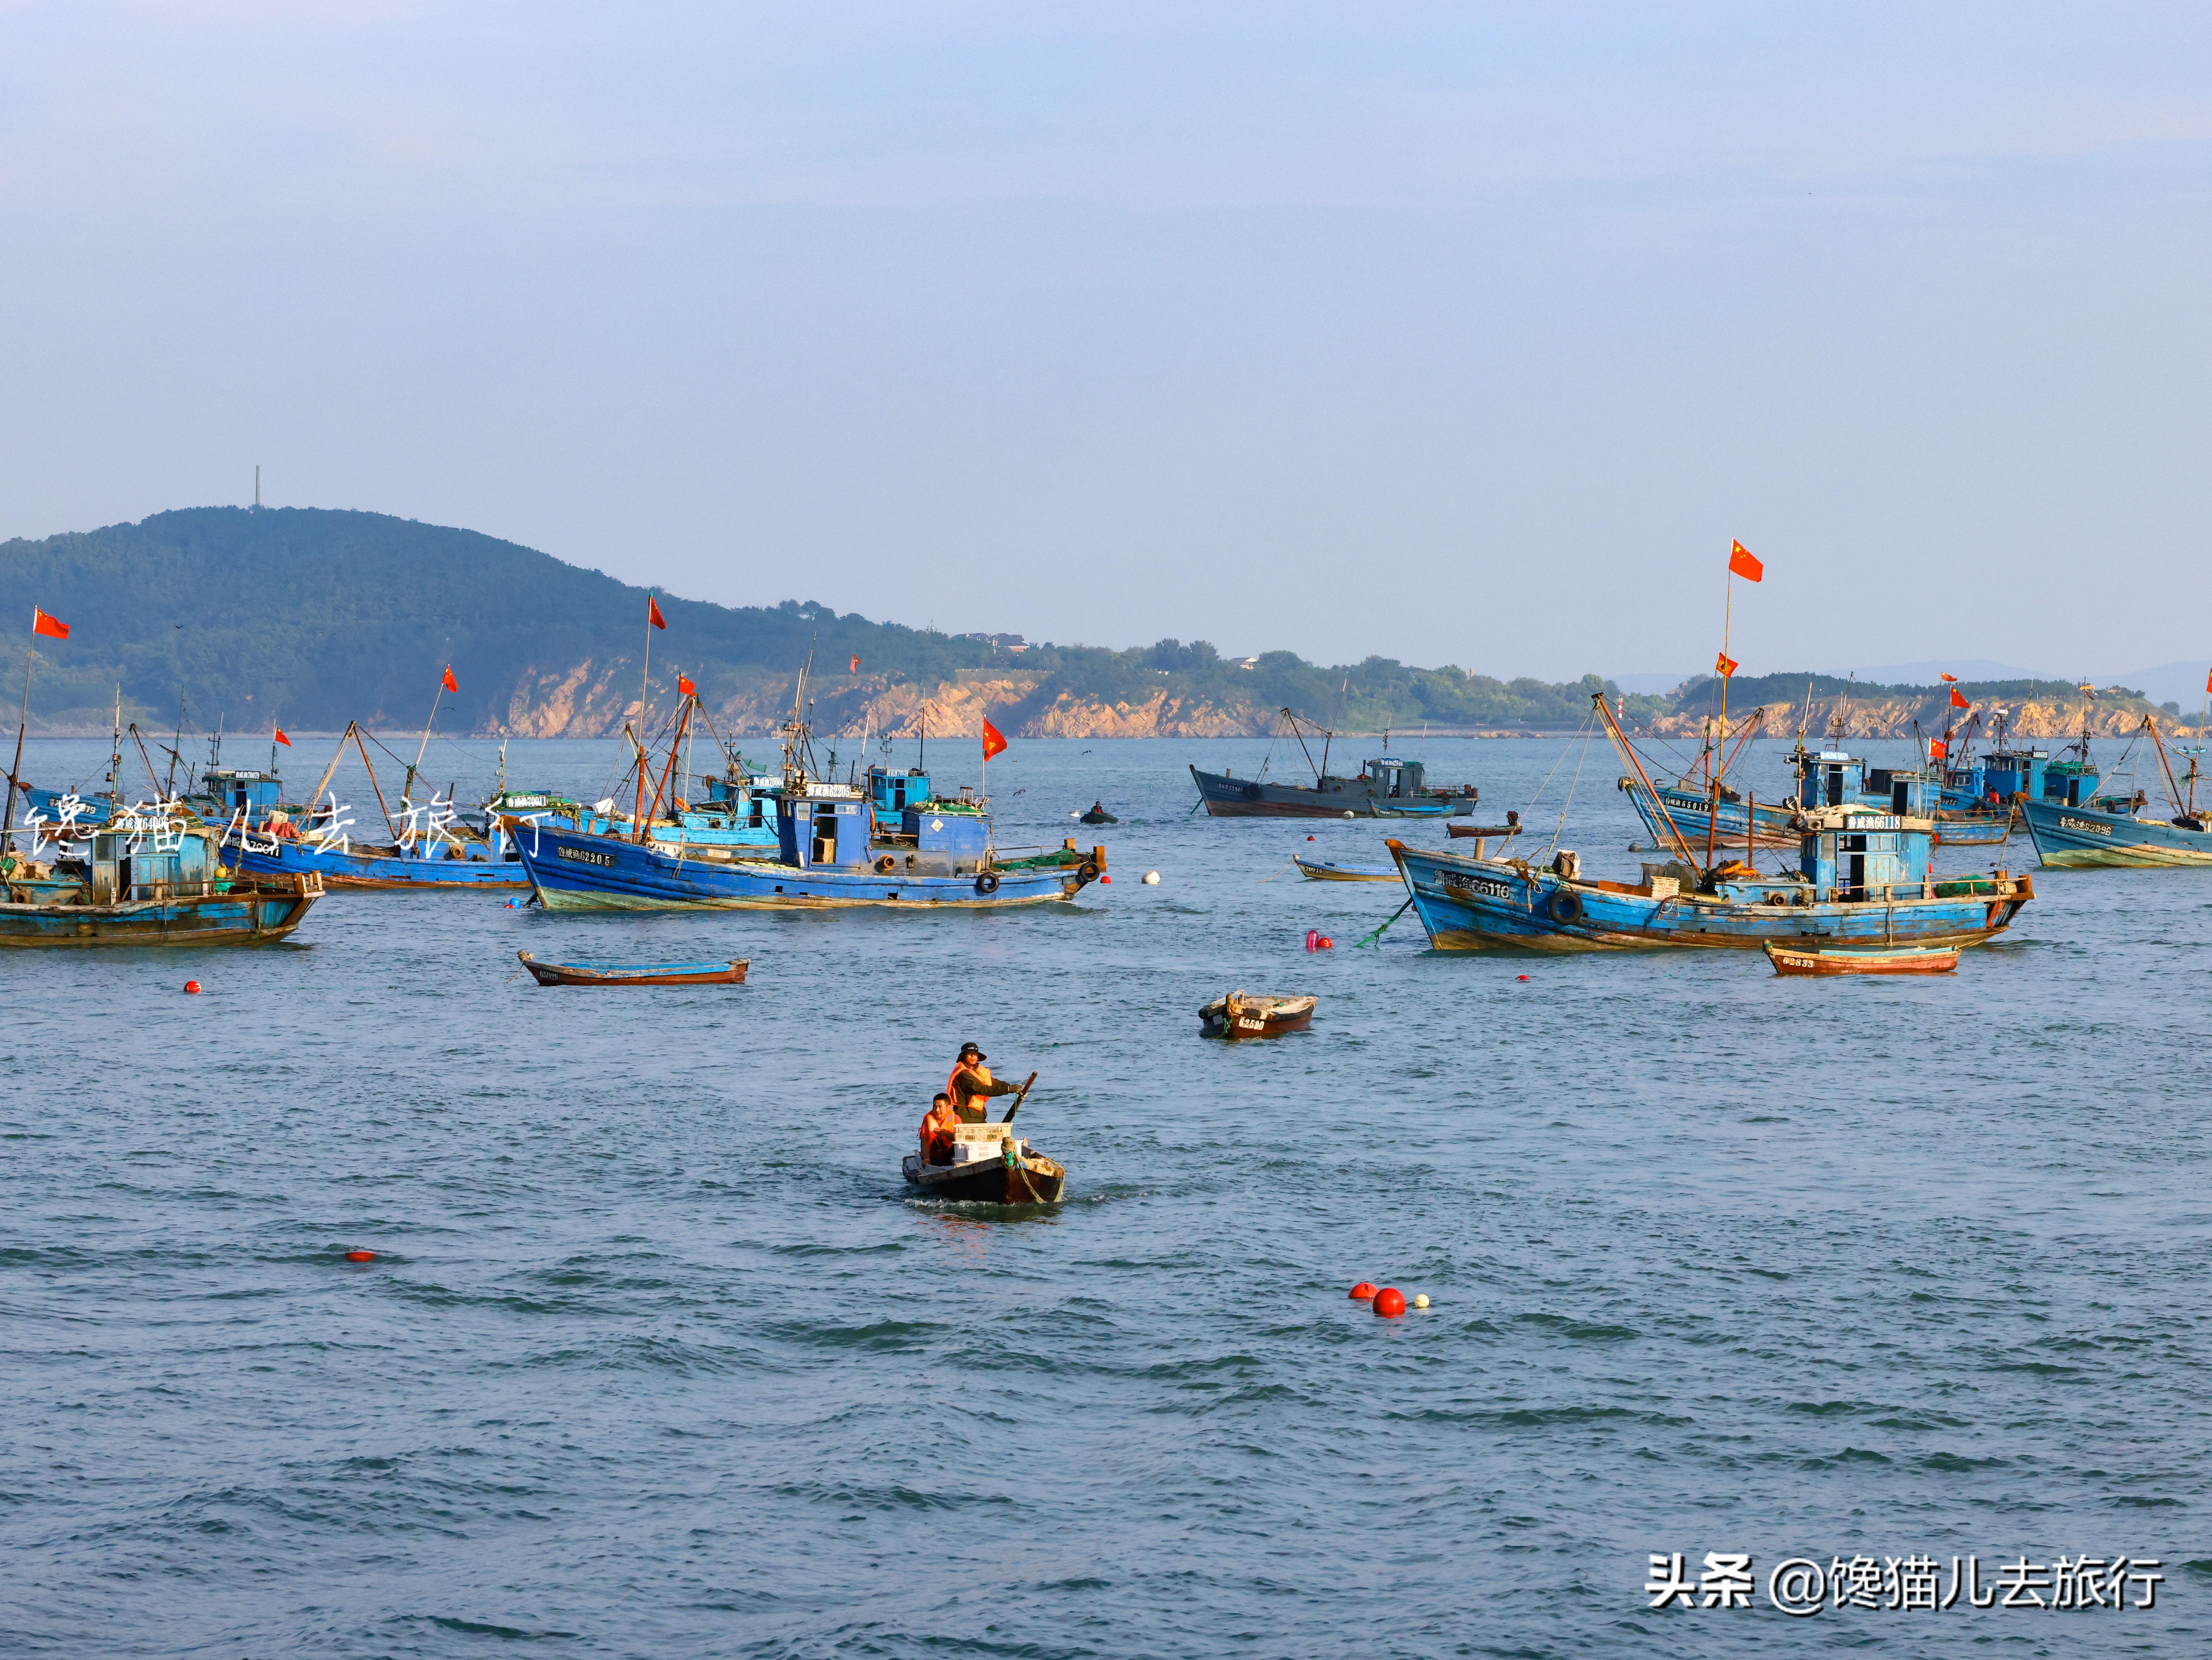
<svg viewBox="0 0 2212 1660">
<path fill-rule="evenodd" d="M 613 836 L 540 829 L 515 838 L 546 911 L 1004 911 L 1073 900 L 1084 864 L 1000 866 L 982 875 L 697 860 Z"/>
</svg>

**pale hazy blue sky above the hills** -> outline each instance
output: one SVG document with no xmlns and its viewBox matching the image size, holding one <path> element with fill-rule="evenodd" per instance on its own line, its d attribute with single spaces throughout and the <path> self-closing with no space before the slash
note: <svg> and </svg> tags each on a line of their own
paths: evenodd
<svg viewBox="0 0 2212 1660">
<path fill-rule="evenodd" d="M 2188 4 L 0 0 L 0 535 L 261 464 L 949 632 L 2199 661 L 2208 69 Z"/>
</svg>

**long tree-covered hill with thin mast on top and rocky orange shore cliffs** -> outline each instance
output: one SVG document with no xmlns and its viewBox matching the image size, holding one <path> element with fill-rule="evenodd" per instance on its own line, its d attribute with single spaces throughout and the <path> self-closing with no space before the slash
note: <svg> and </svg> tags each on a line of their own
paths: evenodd
<svg viewBox="0 0 2212 1660">
<path fill-rule="evenodd" d="M 646 614 L 644 588 L 513 542 L 321 508 L 186 508 L 15 539 L 0 544 L 0 572 L 22 626 L 33 603 L 71 626 L 66 641 L 38 641 L 31 712 L 44 729 L 104 729 L 117 685 L 124 718 L 150 727 L 175 721 L 179 694 L 197 729 L 217 718 L 232 732 L 334 729 L 349 718 L 407 727 L 429 712 L 447 663 L 460 683 L 438 716 L 447 732 L 500 732 L 531 714 L 544 716 L 535 729 L 619 729 L 635 692 L 588 714 L 580 703 L 568 718 L 546 714 L 551 687 L 584 676 L 624 685 L 624 672 L 637 674 Z M 661 590 L 659 603 L 668 632 L 655 637 L 655 703 L 672 701 L 684 670 L 710 707 L 754 729 L 787 701 L 810 650 L 825 694 L 929 694 L 982 679 L 1002 687 L 991 718 L 1006 732 L 1053 710 L 1146 707 L 1161 696 L 1212 712 L 1217 729 L 1263 729 L 1279 705 L 1347 732 L 1573 727 L 1604 687 L 1597 676 L 1548 685 L 1389 659 L 1321 668 L 1292 652 L 1239 665 L 1203 641 L 1172 639 L 1128 652 L 1042 643 L 1013 654 L 812 601 L 728 608 Z M 9 634 L 0 674 L 22 674 L 27 639 Z M 847 674 L 852 656 L 860 676 Z M 1632 718 L 1670 707 L 1628 703 Z"/>
</svg>

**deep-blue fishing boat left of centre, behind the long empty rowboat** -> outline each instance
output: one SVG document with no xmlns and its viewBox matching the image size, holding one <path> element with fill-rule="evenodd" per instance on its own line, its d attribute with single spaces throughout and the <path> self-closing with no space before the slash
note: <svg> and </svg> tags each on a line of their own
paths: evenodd
<svg viewBox="0 0 2212 1660">
<path fill-rule="evenodd" d="M 670 738 L 668 774 L 653 807 L 633 805 L 630 824 L 653 827 L 668 796 L 684 716 Z M 962 791 L 945 800 L 927 774 L 872 769 L 867 787 L 810 774 L 803 723 L 787 727 L 785 774 L 776 794 L 754 791 L 774 816 L 772 849 L 659 840 L 613 824 L 502 822 L 522 855 L 538 902 L 549 911 L 653 908 L 1002 908 L 1073 900 L 1106 873 L 1106 849 L 1073 840 L 1057 849 L 1002 849 L 989 802 Z M 639 765 L 637 798 L 646 796 Z M 896 809 L 891 802 L 902 802 Z"/>
</svg>

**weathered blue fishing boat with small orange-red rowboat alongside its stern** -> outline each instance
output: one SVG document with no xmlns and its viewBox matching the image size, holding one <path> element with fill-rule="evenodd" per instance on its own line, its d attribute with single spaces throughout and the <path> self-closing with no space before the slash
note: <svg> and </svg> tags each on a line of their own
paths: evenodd
<svg viewBox="0 0 2212 1660">
<path fill-rule="evenodd" d="M 1597 698 L 1621 758 L 1641 763 Z M 1825 782 L 1825 776 L 1823 776 Z M 1646 782 L 1646 791 L 1650 785 Z M 1407 902 L 1438 950 L 1524 946 L 1606 950 L 1714 946 L 1756 950 L 1765 942 L 1816 944 L 1980 944 L 2011 926 L 2035 886 L 2026 875 L 1938 878 L 1936 824 L 1885 813 L 1867 802 L 1798 807 L 1798 869 L 1763 875 L 1728 860 L 1699 860 L 1681 824 L 1666 813 L 1666 844 L 1679 860 L 1646 866 L 1641 882 L 1582 875 L 1562 851 L 1551 866 L 1411 849 L 1389 840 Z"/>
</svg>

